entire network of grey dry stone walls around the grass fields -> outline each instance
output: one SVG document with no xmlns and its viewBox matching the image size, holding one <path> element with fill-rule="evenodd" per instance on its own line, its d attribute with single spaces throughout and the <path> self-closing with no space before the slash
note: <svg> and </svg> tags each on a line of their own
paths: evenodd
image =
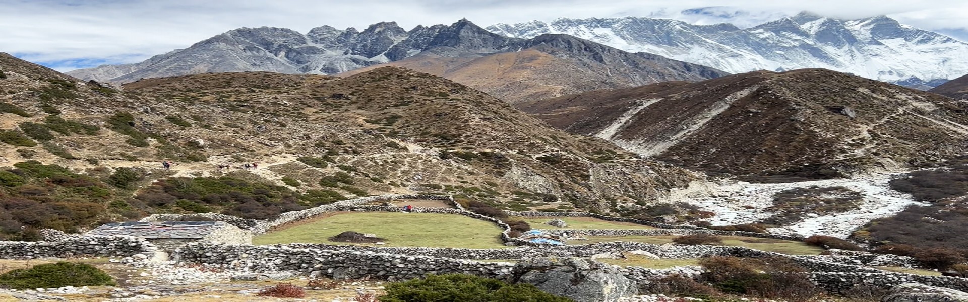
<svg viewBox="0 0 968 302">
<path fill-rule="evenodd" d="M 345 200 L 304 211 L 281 215 L 272 221 L 247 221 L 219 214 L 201 214 L 213 220 L 226 221 L 235 226 L 249 226 L 254 233 L 265 232 L 271 227 L 307 219 L 330 211 L 400 211 L 394 206 L 364 205 L 389 199 L 443 200 L 455 208 L 414 208 L 415 212 L 463 215 L 492 222 L 504 228 L 502 239 L 521 245 L 507 249 L 454 249 L 420 247 L 369 247 L 352 245 L 303 244 L 253 246 L 248 244 L 193 242 L 172 250 L 176 263 L 199 263 L 240 272 L 251 273 L 297 273 L 312 277 L 336 279 L 359 279 L 364 277 L 389 281 L 408 280 L 429 274 L 472 274 L 499 280 L 513 278 L 514 263 L 482 262 L 471 259 L 531 259 L 537 257 L 592 257 L 603 253 L 643 251 L 661 258 L 696 258 L 712 256 L 731 257 L 786 257 L 808 270 L 809 278 L 820 287 L 831 291 L 843 291 L 852 287 L 893 287 L 918 283 L 933 287 L 968 290 L 968 279 L 940 276 L 919 276 L 888 272 L 871 266 L 915 267 L 911 257 L 872 255 L 862 252 L 831 250 L 829 256 L 788 256 L 753 250 L 744 247 L 703 245 L 654 245 L 640 242 L 606 242 L 588 245 L 542 246 L 529 244 L 507 235 L 509 227 L 497 219 L 481 216 L 461 208 L 450 196 L 371 196 Z M 718 231 L 702 227 L 681 227 L 654 224 L 629 219 L 613 219 L 590 213 L 530 213 L 510 212 L 515 216 L 592 217 L 607 221 L 636 223 L 657 229 L 551 229 L 550 232 L 571 232 L 590 235 L 658 235 L 710 233 L 717 235 L 748 235 L 745 232 Z M 546 215 L 546 216 L 538 216 Z M 146 220 L 175 220 L 180 217 L 153 216 Z M 758 234 L 758 233 L 754 233 Z M 797 240 L 799 237 L 759 234 L 775 239 Z M 46 242 L 0 242 L 0 258 L 37 257 L 126 257 L 136 260 L 150 259 L 162 253 L 159 247 L 144 238 L 131 236 L 80 237 L 57 232 L 45 234 L 57 241 Z M 522 261 L 528 262 L 528 261 Z M 696 277 L 703 269 L 697 266 L 649 269 L 643 267 L 618 268 L 618 272 L 635 283 L 650 283 L 668 275 Z"/>
</svg>

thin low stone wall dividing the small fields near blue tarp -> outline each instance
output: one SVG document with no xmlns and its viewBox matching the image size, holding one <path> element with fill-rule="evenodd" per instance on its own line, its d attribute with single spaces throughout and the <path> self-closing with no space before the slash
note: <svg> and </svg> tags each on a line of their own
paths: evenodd
<svg viewBox="0 0 968 302">
<path fill-rule="evenodd" d="M 580 228 L 538 228 L 538 230 L 567 236 L 570 234 L 583 234 L 589 236 L 661 236 L 661 235 L 718 235 L 718 236 L 745 236 L 768 239 L 782 239 L 803 241 L 803 237 L 787 236 L 780 234 L 758 233 L 741 230 L 715 230 L 715 229 L 695 229 L 695 228 L 652 228 L 652 229 L 580 229 Z"/>
</svg>

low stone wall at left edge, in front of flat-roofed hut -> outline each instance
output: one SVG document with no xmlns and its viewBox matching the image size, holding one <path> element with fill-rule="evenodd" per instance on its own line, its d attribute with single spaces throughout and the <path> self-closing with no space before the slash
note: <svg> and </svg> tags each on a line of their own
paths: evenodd
<svg viewBox="0 0 968 302">
<path fill-rule="evenodd" d="M 131 236 L 70 237 L 62 241 L 0 241 L 0 258 L 130 257 L 158 251 L 144 238 Z"/>
</svg>

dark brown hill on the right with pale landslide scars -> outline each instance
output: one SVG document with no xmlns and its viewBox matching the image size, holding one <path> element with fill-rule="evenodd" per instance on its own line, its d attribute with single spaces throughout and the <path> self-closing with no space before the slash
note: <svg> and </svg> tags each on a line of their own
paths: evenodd
<svg viewBox="0 0 968 302">
<path fill-rule="evenodd" d="M 823 178 L 963 154 L 960 102 L 828 70 L 755 72 L 520 105 L 573 134 L 714 173 Z"/>
</svg>

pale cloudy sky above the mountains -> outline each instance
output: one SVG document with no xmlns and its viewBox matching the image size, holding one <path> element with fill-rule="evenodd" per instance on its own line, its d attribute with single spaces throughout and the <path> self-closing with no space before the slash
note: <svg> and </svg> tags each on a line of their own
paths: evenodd
<svg viewBox="0 0 968 302">
<path fill-rule="evenodd" d="M 706 8 L 704 10 L 695 10 Z M 0 52 L 58 71 L 136 63 L 239 27 L 404 28 L 467 17 L 488 26 L 557 17 L 651 16 L 752 26 L 809 11 L 840 18 L 889 15 L 968 41 L 964 0 L 0 0 Z"/>
</svg>

